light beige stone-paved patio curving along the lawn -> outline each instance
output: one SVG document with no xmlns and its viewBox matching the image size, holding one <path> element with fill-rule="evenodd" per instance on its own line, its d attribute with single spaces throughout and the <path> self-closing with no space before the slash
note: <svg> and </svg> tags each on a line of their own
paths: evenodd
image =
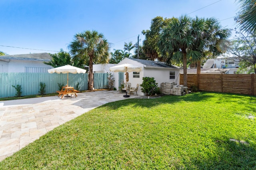
<svg viewBox="0 0 256 170">
<path fill-rule="evenodd" d="M 51 96 L 0 102 L 0 161 L 87 111 L 128 99 L 124 94 L 107 90 L 77 95 L 72 99 Z"/>
</svg>

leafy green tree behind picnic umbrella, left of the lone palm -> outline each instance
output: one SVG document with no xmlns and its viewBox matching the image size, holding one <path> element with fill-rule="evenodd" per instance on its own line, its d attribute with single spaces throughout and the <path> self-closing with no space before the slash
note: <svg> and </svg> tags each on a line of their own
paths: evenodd
<svg viewBox="0 0 256 170">
<path fill-rule="evenodd" d="M 52 57 L 52 60 L 49 62 L 44 62 L 44 64 L 53 66 L 54 68 L 64 65 L 71 65 L 71 57 L 69 53 L 63 51 L 63 49 L 60 49 L 60 52 L 55 54 L 49 54 Z"/>
</svg>

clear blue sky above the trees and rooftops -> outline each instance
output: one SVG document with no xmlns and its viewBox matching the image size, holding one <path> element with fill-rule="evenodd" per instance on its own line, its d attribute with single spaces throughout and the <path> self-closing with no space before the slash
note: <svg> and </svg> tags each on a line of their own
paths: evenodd
<svg viewBox="0 0 256 170">
<path fill-rule="evenodd" d="M 1 0 L 0 9 L 0 51 L 15 55 L 68 51 L 74 35 L 86 30 L 103 33 L 112 43 L 111 51 L 123 49 L 124 42 L 135 44 L 138 35 L 142 45 L 141 31 L 150 29 L 156 16 L 214 17 L 222 27 L 234 28 L 238 4 L 235 0 Z"/>
</svg>

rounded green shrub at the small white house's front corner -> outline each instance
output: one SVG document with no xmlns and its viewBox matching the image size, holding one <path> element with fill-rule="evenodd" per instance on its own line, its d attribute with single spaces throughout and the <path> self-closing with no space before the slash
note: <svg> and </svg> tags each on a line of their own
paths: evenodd
<svg viewBox="0 0 256 170">
<path fill-rule="evenodd" d="M 158 83 L 156 83 L 156 80 L 154 77 L 142 77 L 142 84 L 140 84 L 141 91 L 143 93 L 147 93 L 148 95 L 152 96 L 154 92 L 158 92 Z M 159 89 L 160 91 L 160 89 Z"/>
</svg>

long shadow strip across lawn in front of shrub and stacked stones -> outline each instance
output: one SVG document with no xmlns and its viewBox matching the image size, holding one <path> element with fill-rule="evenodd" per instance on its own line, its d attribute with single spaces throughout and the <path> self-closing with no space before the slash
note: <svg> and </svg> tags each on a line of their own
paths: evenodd
<svg viewBox="0 0 256 170">
<path fill-rule="evenodd" d="M 153 98 L 153 99 L 148 99 L 148 98 L 143 98 L 143 99 L 128 99 L 128 100 L 121 100 L 117 101 L 114 103 L 109 103 L 108 107 L 110 109 L 118 109 L 119 107 L 122 106 L 128 106 L 132 105 L 132 107 L 155 107 L 160 104 L 175 104 L 178 102 L 199 102 L 199 101 L 207 101 L 209 98 L 214 97 L 214 94 L 212 93 L 190 93 L 186 94 L 184 96 L 163 96 L 160 98 Z M 102 107 L 105 107 L 103 105 Z"/>
</svg>

